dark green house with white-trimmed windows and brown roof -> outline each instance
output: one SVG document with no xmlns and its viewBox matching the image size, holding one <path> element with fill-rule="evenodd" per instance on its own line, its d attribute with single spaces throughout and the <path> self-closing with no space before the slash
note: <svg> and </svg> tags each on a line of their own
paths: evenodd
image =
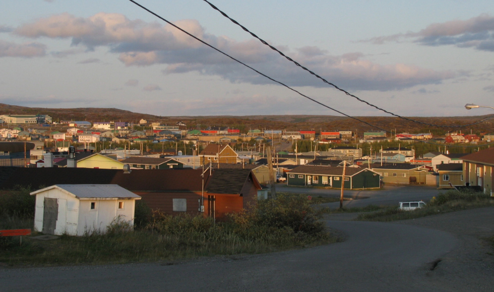
<svg viewBox="0 0 494 292">
<path fill-rule="evenodd" d="M 300 165 L 287 174 L 288 185 L 341 188 L 343 167 Z M 344 181 L 346 189 L 380 187 L 379 174 L 368 168 L 345 168 Z"/>
</svg>

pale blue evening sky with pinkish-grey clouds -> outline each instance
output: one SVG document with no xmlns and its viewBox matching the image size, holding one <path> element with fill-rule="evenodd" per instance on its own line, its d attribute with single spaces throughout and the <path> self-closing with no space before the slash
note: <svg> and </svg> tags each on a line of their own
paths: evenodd
<svg viewBox="0 0 494 292">
<path fill-rule="evenodd" d="M 160 116 L 389 116 L 262 44 L 203 0 L 7 1 L 0 103 Z M 340 89 L 401 116 L 494 106 L 494 2 L 211 0 Z M 293 90 L 291 90 L 291 89 Z"/>
</svg>

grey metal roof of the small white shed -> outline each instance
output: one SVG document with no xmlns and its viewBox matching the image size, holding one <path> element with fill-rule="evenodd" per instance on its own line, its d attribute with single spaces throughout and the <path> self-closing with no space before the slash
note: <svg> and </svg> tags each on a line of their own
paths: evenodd
<svg viewBox="0 0 494 292">
<path fill-rule="evenodd" d="M 83 198 L 138 198 L 141 197 L 135 193 L 126 190 L 118 185 L 99 185 L 99 184 L 59 184 L 32 192 L 35 195 L 50 189 L 59 189 L 75 196 L 78 199 Z"/>
</svg>

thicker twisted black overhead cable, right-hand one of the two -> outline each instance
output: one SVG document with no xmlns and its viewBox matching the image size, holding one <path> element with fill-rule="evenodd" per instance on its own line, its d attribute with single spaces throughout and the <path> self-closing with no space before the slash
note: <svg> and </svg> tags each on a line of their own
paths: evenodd
<svg viewBox="0 0 494 292">
<path fill-rule="evenodd" d="M 260 37 L 258 37 L 255 33 L 251 32 L 249 29 L 245 28 L 243 25 L 239 24 L 236 20 L 230 18 L 226 13 L 224 13 L 223 11 L 219 10 L 216 6 L 214 6 L 211 2 L 209 2 L 208 0 L 203 0 L 204 2 L 206 2 L 207 4 L 209 4 L 209 6 L 211 6 L 214 10 L 218 11 L 219 13 L 221 13 L 221 15 L 223 15 L 224 17 L 228 18 L 231 22 L 233 22 L 234 24 L 238 25 L 239 27 L 241 27 L 244 31 L 250 33 L 253 37 L 257 38 L 259 41 L 261 41 L 263 44 L 267 45 L 268 47 L 270 47 L 272 50 L 278 52 L 280 55 L 282 55 L 283 57 L 285 57 L 287 60 L 289 60 L 290 62 L 293 62 L 295 65 L 297 65 L 298 67 L 304 69 L 305 71 L 309 72 L 310 74 L 314 75 L 316 78 L 319 78 L 320 80 L 322 80 L 324 83 L 328 84 L 328 85 L 331 85 L 333 86 L 335 89 L 341 91 L 341 92 L 344 92 L 346 95 L 348 96 L 351 96 L 353 98 L 355 98 L 356 100 L 360 101 L 360 102 L 363 102 L 365 104 L 367 104 L 368 106 L 371 106 L 371 107 L 374 107 L 380 111 L 383 111 L 387 114 L 390 114 L 390 115 L 393 115 L 395 117 L 398 117 L 400 119 L 404 119 L 404 120 L 407 120 L 407 121 L 411 121 L 411 122 L 414 122 L 414 123 L 418 123 L 418 124 L 422 124 L 422 125 L 427 125 L 427 126 L 433 126 L 433 127 L 449 127 L 449 126 L 445 126 L 445 125 L 435 125 L 435 124 L 429 124 L 429 123 L 425 123 L 425 122 L 421 122 L 421 121 L 417 121 L 417 120 L 413 120 L 413 119 L 410 119 L 410 118 L 407 118 L 407 117 L 403 117 L 403 116 L 400 116 L 400 115 L 397 115 L 395 113 L 392 113 L 390 111 L 387 111 L 385 109 L 382 109 L 372 103 L 369 103 L 361 98 L 358 98 L 357 96 L 347 92 L 346 90 L 344 89 L 341 89 L 339 88 L 338 86 L 336 86 L 335 84 L 327 81 L 326 79 L 322 78 L 321 76 L 317 75 L 315 72 L 311 71 L 310 69 L 302 66 L 300 63 L 298 63 L 297 61 L 293 60 L 292 58 L 288 57 L 287 55 L 285 55 L 283 52 L 281 52 L 280 50 L 278 50 L 277 48 L 275 48 L 274 46 L 270 45 L 268 42 L 266 42 L 265 40 L 261 39 Z M 466 124 L 466 125 L 461 125 L 461 126 L 458 126 L 458 128 L 463 128 L 463 127 L 468 127 L 468 126 L 471 126 L 471 125 L 475 125 L 477 123 L 480 123 L 486 119 L 489 119 L 491 117 L 494 117 L 494 114 L 493 115 L 490 115 L 488 117 L 485 117 L 479 121 L 476 121 L 474 123 L 471 123 L 471 124 Z"/>
</svg>

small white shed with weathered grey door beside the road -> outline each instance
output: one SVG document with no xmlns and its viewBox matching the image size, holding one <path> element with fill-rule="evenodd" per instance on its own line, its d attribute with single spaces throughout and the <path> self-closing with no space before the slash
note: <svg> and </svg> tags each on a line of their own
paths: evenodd
<svg viewBox="0 0 494 292">
<path fill-rule="evenodd" d="M 53 185 L 36 195 L 34 229 L 44 234 L 81 236 L 105 232 L 115 218 L 134 225 L 140 196 L 118 185 Z"/>
</svg>

